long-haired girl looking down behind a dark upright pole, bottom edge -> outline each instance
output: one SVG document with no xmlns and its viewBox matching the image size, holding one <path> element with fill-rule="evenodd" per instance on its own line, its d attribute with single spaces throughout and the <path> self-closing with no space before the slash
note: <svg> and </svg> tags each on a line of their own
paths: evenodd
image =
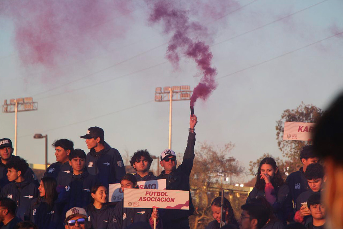
<svg viewBox="0 0 343 229">
<path fill-rule="evenodd" d="M 220 196 L 213 199 L 211 203 L 212 216 L 214 218 L 205 229 L 219 229 L 220 228 L 220 211 L 221 211 L 221 198 Z M 228 199 L 224 197 L 223 215 L 225 215 L 225 225 L 231 224 L 233 227 L 238 228 L 238 222 L 235 218 L 234 211 Z"/>
</svg>

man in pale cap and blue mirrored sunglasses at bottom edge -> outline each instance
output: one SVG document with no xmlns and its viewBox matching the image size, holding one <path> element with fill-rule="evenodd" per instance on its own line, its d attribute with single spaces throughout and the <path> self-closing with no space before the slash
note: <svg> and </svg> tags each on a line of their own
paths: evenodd
<svg viewBox="0 0 343 229">
<path fill-rule="evenodd" d="M 73 207 L 66 213 L 65 229 L 90 229 L 91 222 L 88 221 L 88 215 L 85 209 Z"/>
</svg>

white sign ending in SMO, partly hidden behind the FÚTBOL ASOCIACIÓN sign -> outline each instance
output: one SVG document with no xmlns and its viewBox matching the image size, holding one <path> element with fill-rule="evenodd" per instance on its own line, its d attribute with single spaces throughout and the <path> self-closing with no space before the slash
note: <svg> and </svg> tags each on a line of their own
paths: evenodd
<svg viewBox="0 0 343 229">
<path fill-rule="evenodd" d="M 139 181 L 137 182 L 139 188 L 145 189 L 166 189 L 166 179 L 153 180 L 153 181 Z M 121 191 L 120 183 L 108 185 L 108 201 L 118 202 L 124 198 L 124 194 Z"/>
</svg>

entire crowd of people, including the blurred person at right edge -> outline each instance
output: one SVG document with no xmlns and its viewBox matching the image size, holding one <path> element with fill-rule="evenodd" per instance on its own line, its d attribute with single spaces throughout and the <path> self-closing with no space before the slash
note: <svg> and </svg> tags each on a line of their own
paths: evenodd
<svg viewBox="0 0 343 229">
<path fill-rule="evenodd" d="M 317 125 L 314 144 L 300 152 L 303 167 L 284 179 L 273 158 L 264 158 L 256 184 L 236 219 L 228 199 L 211 203 L 213 221 L 206 229 L 342 228 L 343 96 L 329 108 Z M 126 173 L 120 153 L 104 140 L 104 131 L 90 127 L 86 154 L 74 149 L 68 139 L 56 140 L 56 162 L 37 181 L 27 162 L 12 155 L 12 141 L 0 139 L 0 227 L 1 228 L 189 228 L 194 213 L 191 192 L 189 210 L 126 208 L 123 200 L 108 203 L 109 184 L 138 188 L 138 181 L 166 179 L 167 190 L 190 191 L 197 116 L 190 116 L 187 147 L 177 167 L 176 154 L 165 149 L 160 156 L 164 168 L 155 176 L 149 171 L 153 158 L 138 150 L 130 160 L 135 174 Z M 338 127 L 332 130 L 333 127 Z M 338 130 L 337 130 L 338 129 Z"/>
</svg>

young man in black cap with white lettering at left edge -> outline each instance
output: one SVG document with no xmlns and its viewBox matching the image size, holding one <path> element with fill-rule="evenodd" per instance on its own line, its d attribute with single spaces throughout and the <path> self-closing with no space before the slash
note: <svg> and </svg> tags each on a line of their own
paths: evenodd
<svg viewBox="0 0 343 229">
<path fill-rule="evenodd" d="M 9 138 L 0 139 L 0 157 L 1 157 L 1 161 L 0 161 L 0 190 L 1 190 L 1 187 L 10 183 L 10 181 L 7 179 L 6 163 L 9 162 L 10 160 L 12 160 L 13 158 L 19 158 L 18 156 L 12 155 L 12 153 L 13 153 L 13 147 L 12 147 L 11 139 L 9 139 Z M 31 168 L 28 168 L 26 170 L 26 172 L 24 174 L 24 178 L 27 181 L 34 182 L 37 186 L 39 185 L 37 177 Z"/>
</svg>

